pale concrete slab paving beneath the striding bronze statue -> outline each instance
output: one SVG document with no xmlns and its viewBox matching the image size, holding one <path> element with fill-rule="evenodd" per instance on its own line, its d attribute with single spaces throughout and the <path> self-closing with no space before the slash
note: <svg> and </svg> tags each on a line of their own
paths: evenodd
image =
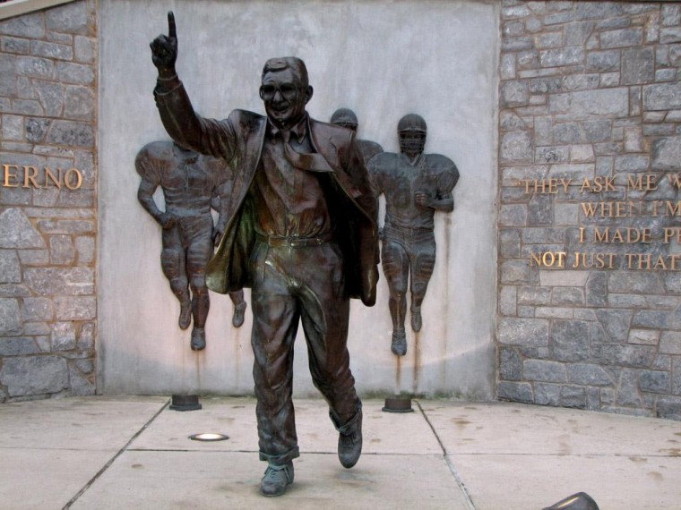
<svg viewBox="0 0 681 510">
<path fill-rule="evenodd" d="M 574 492 L 601 509 L 681 507 L 681 423 L 501 403 L 365 402 L 364 454 L 345 470 L 321 401 L 297 400 L 296 481 L 257 493 L 254 400 L 162 397 L 0 405 L 0 508 L 533 510 Z M 200 443 L 198 432 L 227 441 Z"/>
</svg>

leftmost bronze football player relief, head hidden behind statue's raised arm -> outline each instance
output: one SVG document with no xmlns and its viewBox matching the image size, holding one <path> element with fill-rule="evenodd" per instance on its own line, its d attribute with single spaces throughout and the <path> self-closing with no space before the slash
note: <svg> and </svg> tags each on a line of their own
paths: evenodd
<svg viewBox="0 0 681 510">
<path fill-rule="evenodd" d="M 206 266 L 213 254 L 214 240 L 225 230 L 227 217 L 220 210 L 220 193 L 228 193 L 229 174 L 219 159 L 183 149 L 169 140 L 145 145 L 134 166 L 142 177 L 137 199 L 163 229 L 160 264 L 180 302 L 179 327 L 189 327 L 194 316 L 190 346 L 201 351 L 206 346 L 205 324 L 211 306 Z M 165 211 L 153 199 L 159 186 Z M 220 212 L 215 227 L 211 205 Z M 246 310 L 244 291 L 239 289 L 229 297 L 235 305 L 232 323 L 239 327 Z"/>
</svg>

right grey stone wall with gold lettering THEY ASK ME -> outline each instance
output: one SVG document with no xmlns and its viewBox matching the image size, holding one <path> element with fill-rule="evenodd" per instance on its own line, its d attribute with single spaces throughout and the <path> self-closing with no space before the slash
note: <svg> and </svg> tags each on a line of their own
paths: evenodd
<svg viewBox="0 0 681 510">
<path fill-rule="evenodd" d="M 498 397 L 681 420 L 681 4 L 502 6 Z"/>
</svg>

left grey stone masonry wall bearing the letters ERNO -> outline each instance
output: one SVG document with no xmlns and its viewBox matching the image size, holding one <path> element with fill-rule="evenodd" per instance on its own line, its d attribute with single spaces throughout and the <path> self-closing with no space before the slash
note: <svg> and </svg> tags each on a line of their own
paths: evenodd
<svg viewBox="0 0 681 510">
<path fill-rule="evenodd" d="M 0 21 L 0 402 L 94 393 L 96 30 L 94 0 Z"/>
</svg>

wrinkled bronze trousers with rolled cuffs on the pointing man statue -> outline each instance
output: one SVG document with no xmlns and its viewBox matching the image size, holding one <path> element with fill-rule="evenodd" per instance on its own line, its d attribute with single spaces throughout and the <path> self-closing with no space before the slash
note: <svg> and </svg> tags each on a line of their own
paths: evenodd
<svg viewBox="0 0 681 510">
<path fill-rule="evenodd" d="M 305 333 L 309 369 L 333 425 L 348 431 L 361 402 L 349 368 L 349 297 L 343 259 L 335 242 L 255 243 L 253 276 L 253 377 L 260 459 L 275 465 L 299 455 L 293 408 L 293 346 Z"/>
</svg>

